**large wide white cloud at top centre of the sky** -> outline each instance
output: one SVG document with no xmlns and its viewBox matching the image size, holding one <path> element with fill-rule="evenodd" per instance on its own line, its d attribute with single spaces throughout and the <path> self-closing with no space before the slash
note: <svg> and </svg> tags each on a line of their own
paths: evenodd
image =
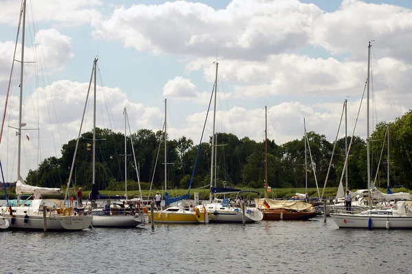
<svg viewBox="0 0 412 274">
<path fill-rule="evenodd" d="M 263 59 L 304 47 L 314 18 L 322 11 L 299 1 L 233 0 L 225 10 L 186 1 L 117 7 L 95 22 L 93 36 L 119 40 L 152 54 Z"/>
</svg>

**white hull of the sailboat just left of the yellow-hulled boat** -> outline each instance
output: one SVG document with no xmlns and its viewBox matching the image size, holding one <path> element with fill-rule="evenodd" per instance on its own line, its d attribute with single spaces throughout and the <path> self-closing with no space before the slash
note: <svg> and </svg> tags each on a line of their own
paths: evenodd
<svg viewBox="0 0 412 274">
<path fill-rule="evenodd" d="M 91 215 L 93 227 L 136 227 L 148 222 L 146 214 L 135 215 Z"/>
</svg>

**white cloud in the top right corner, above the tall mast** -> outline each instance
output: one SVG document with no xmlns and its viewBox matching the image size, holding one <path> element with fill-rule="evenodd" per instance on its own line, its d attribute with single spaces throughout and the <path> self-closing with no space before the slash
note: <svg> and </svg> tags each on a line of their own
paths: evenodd
<svg viewBox="0 0 412 274">
<path fill-rule="evenodd" d="M 381 57 L 411 62 L 412 11 L 386 3 L 344 0 L 335 12 L 317 17 L 311 42 L 332 54 L 350 53 L 353 60 L 365 60 L 369 40 Z"/>
</svg>

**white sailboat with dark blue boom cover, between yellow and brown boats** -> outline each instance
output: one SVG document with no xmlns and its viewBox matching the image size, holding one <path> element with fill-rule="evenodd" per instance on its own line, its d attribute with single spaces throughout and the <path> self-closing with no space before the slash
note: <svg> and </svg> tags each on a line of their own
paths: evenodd
<svg viewBox="0 0 412 274">
<path fill-rule="evenodd" d="M 216 139 L 215 139 L 215 125 L 216 125 L 216 98 L 217 98 L 217 84 L 218 84 L 218 62 L 216 62 L 216 77 L 214 82 L 214 116 L 213 116 L 213 132 L 211 135 L 211 166 L 210 166 L 210 196 L 209 201 L 205 205 L 197 206 L 196 208 L 206 208 L 209 222 L 211 223 L 255 223 L 262 221 L 263 214 L 257 208 L 246 207 L 244 201 L 240 201 L 240 193 L 246 190 L 236 188 L 217 188 L 214 185 L 214 176 L 216 175 L 215 153 L 216 153 Z M 231 199 L 214 199 L 215 195 L 238 193 L 236 198 Z M 257 192 L 259 195 L 259 192 Z"/>
</svg>

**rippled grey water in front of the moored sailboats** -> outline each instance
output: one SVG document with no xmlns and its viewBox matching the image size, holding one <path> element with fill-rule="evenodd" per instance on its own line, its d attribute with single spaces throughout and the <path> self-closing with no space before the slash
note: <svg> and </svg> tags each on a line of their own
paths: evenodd
<svg viewBox="0 0 412 274">
<path fill-rule="evenodd" d="M 412 273 L 410 230 L 332 219 L 0 232 L 2 273 Z"/>
</svg>

